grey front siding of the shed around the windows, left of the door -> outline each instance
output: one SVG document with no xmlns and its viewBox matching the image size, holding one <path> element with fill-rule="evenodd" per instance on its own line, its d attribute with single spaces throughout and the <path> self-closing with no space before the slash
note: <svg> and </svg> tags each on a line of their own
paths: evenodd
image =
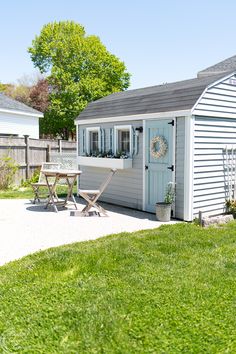
<svg viewBox="0 0 236 354">
<path fill-rule="evenodd" d="M 83 132 L 87 127 L 99 126 L 105 130 L 106 146 L 105 150 L 110 149 L 110 129 L 115 125 L 132 125 L 135 127 L 142 126 L 142 121 L 135 122 L 119 122 L 107 124 L 91 124 L 79 126 L 79 154 L 82 153 L 83 145 Z M 100 200 L 123 205 L 135 209 L 142 209 L 143 202 L 143 133 L 139 135 L 138 154 L 133 157 L 133 167 L 131 169 L 118 170 L 112 178 L 105 192 L 102 194 Z M 85 144 L 86 145 L 86 144 Z M 80 166 L 83 171 L 79 186 L 81 189 L 96 189 L 104 181 L 109 173 L 109 169 Z"/>
</svg>

